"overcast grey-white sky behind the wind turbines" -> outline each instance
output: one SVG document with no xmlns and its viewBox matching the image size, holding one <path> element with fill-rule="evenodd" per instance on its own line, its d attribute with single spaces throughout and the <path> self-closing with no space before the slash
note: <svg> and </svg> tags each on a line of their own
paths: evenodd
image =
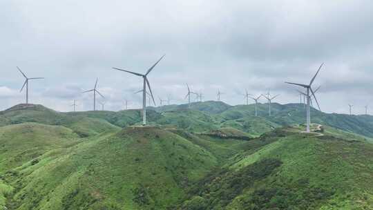
<svg viewBox="0 0 373 210">
<path fill-rule="evenodd" d="M 234 3 L 233 3 L 234 2 Z M 285 81 L 308 83 L 322 111 L 363 113 L 373 108 L 373 1 L 0 1 L 0 110 L 30 102 L 57 111 L 92 109 L 92 89 L 106 109 L 140 107 L 139 73 L 166 54 L 149 75 L 155 97 L 187 101 L 185 83 L 204 100 L 220 89 L 228 104 L 271 90 L 276 102 L 299 102 Z M 265 102 L 265 100 L 262 100 Z M 157 103 L 158 99 L 157 99 Z M 373 110 L 373 109 L 372 109 Z"/>
</svg>

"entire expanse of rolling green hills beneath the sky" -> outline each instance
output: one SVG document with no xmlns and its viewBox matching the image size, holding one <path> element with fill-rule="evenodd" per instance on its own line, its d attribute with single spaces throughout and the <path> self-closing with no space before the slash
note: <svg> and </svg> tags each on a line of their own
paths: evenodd
<svg viewBox="0 0 373 210">
<path fill-rule="evenodd" d="M 222 102 L 0 112 L 0 209 L 372 209 L 373 117 Z M 319 129 L 321 128 L 321 129 Z"/>
</svg>

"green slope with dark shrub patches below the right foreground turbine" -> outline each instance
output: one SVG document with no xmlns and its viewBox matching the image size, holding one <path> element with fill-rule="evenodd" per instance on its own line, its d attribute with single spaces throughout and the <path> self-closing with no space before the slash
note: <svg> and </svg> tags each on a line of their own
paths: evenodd
<svg viewBox="0 0 373 210">
<path fill-rule="evenodd" d="M 181 209 L 371 209 L 372 144 L 286 132 L 195 184 Z"/>
</svg>

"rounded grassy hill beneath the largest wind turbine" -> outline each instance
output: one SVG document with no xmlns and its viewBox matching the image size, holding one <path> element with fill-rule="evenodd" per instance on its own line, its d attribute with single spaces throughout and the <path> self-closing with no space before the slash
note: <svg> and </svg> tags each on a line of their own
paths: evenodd
<svg viewBox="0 0 373 210">
<path fill-rule="evenodd" d="M 20 167 L 12 209 L 164 209 L 218 164 L 200 146 L 160 128 L 128 127 Z M 31 196 L 32 195 L 32 196 Z"/>
</svg>

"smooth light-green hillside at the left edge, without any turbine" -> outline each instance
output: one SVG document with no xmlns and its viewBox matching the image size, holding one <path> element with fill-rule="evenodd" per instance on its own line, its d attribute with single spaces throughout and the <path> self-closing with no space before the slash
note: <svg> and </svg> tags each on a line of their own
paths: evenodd
<svg viewBox="0 0 373 210">
<path fill-rule="evenodd" d="M 25 123 L 0 127 L 0 173 L 15 169 L 51 149 L 67 148 L 77 144 L 78 137 L 62 126 Z"/>
</svg>

